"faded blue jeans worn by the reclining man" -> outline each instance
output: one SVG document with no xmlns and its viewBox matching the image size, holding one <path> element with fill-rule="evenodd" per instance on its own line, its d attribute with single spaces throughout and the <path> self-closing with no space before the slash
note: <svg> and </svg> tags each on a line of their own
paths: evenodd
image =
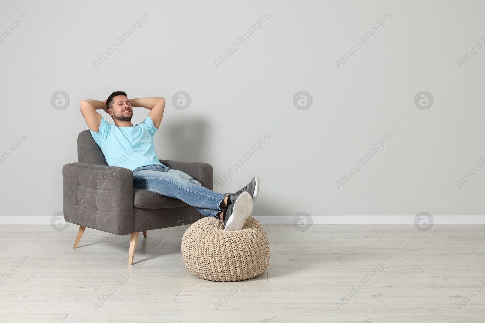
<svg viewBox="0 0 485 323">
<path fill-rule="evenodd" d="M 195 206 L 205 216 L 217 216 L 225 194 L 202 186 L 183 171 L 151 164 L 133 170 L 133 189 L 146 189 L 160 195 L 177 198 Z"/>
</svg>

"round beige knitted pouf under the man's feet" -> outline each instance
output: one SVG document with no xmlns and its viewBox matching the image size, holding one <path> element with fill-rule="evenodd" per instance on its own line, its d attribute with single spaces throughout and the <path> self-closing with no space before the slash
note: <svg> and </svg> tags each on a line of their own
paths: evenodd
<svg viewBox="0 0 485 323">
<path fill-rule="evenodd" d="M 182 259 L 195 277 L 238 281 L 259 276 L 268 268 L 270 245 L 263 227 L 252 216 L 236 231 L 224 231 L 221 219 L 208 216 L 185 231 Z"/>
</svg>

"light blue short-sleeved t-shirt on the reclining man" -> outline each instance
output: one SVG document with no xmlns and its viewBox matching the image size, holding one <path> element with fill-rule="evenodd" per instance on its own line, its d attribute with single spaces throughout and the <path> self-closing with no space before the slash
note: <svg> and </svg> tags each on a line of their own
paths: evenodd
<svg viewBox="0 0 485 323">
<path fill-rule="evenodd" d="M 118 127 L 101 116 L 98 132 L 90 131 L 109 166 L 134 171 L 151 164 L 163 165 L 153 144 L 153 135 L 157 130 L 148 116 L 142 123 L 131 127 Z"/>
</svg>

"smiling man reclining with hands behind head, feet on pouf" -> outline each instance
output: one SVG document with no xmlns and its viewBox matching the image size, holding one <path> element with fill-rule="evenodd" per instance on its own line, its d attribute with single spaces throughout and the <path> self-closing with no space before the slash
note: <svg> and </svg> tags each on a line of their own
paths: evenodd
<svg viewBox="0 0 485 323">
<path fill-rule="evenodd" d="M 81 100 L 79 106 L 108 165 L 133 171 L 133 188 L 182 200 L 195 206 L 202 215 L 223 220 L 224 230 L 242 229 L 258 196 L 259 178 L 254 177 L 235 193 L 220 194 L 202 186 L 190 175 L 161 164 L 153 135 L 162 123 L 165 108 L 162 97 L 129 100 L 125 92 L 117 91 L 103 101 Z M 131 124 L 133 107 L 150 110 L 142 123 Z M 108 113 L 114 124 L 104 120 L 97 109 Z"/>
</svg>

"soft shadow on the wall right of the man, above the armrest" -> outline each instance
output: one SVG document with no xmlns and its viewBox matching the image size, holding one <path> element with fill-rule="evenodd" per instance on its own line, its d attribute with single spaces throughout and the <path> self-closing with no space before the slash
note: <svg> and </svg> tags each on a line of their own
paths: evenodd
<svg viewBox="0 0 485 323">
<path fill-rule="evenodd" d="M 206 160 L 207 126 L 200 119 L 162 123 L 161 159 L 201 162 Z M 155 135 L 156 136 L 156 135 Z M 158 153 L 160 152 L 160 153 Z"/>
</svg>

